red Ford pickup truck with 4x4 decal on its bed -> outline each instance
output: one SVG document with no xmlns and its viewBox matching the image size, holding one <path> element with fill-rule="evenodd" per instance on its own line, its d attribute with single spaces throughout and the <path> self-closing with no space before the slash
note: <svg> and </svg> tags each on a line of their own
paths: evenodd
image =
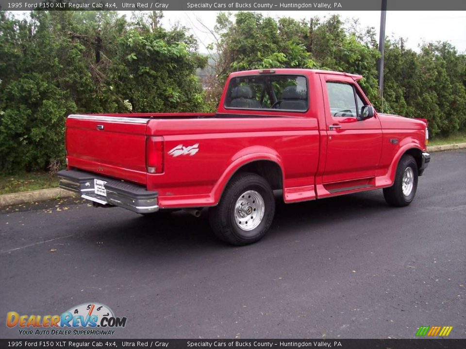
<svg viewBox="0 0 466 349">
<path fill-rule="evenodd" d="M 273 190 L 296 203 L 383 188 L 409 205 L 430 161 L 427 121 L 375 111 L 358 79 L 250 70 L 229 76 L 216 113 L 69 115 L 60 187 L 141 214 L 209 207 L 234 245 L 269 229 Z"/>
</svg>

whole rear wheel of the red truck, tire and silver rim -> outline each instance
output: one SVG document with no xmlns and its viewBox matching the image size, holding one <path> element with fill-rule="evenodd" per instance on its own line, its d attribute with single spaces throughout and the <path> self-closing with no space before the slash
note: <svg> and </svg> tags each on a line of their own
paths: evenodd
<svg viewBox="0 0 466 349">
<path fill-rule="evenodd" d="M 209 209 L 209 221 L 217 238 L 232 245 L 261 239 L 275 213 L 275 198 L 268 182 L 258 174 L 233 177 L 217 206 Z"/>
</svg>

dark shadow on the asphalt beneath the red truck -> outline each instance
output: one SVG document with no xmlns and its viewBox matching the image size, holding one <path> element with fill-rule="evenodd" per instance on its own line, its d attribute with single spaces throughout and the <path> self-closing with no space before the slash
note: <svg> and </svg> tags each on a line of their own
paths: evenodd
<svg viewBox="0 0 466 349">
<path fill-rule="evenodd" d="M 111 223 L 105 224 L 105 228 L 94 229 L 93 234 L 86 236 L 106 240 L 116 248 L 121 246 L 125 254 L 132 247 L 135 248 L 134 253 L 138 254 L 257 248 L 265 246 L 266 241 L 277 242 L 281 237 L 295 234 L 296 231 L 305 230 L 312 235 L 318 228 L 335 222 L 371 218 L 393 209 L 385 204 L 381 190 L 296 204 L 284 204 L 281 197 L 276 196 L 276 214 L 270 231 L 259 244 L 249 247 L 233 247 L 218 241 L 211 231 L 206 209 L 202 210 L 200 218 L 178 211 L 153 217 L 125 214 L 125 217 L 133 218 L 122 220 L 118 217 L 122 211 L 111 208 L 108 209 Z"/>
</svg>

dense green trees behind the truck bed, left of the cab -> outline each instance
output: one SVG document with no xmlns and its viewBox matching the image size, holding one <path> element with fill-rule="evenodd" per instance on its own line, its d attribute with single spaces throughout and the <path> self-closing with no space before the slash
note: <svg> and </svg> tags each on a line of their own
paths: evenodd
<svg viewBox="0 0 466 349">
<path fill-rule="evenodd" d="M 195 71 L 206 63 L 183 27 L 162 14 L 0 12 L 0 170 L 64 159 L 70 113 L 199 111 Z"/>
</svg>

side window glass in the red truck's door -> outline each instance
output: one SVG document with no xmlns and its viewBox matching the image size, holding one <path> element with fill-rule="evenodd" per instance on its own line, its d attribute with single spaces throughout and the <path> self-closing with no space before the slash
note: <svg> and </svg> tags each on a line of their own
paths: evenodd
<svg viewBox="0 0 466 349">
<path fill-rule="evenodd" d="M 342 82 L 327 82 L 327 92 L 329 94 L 330 112 L 335 117 L 356 117 L 358 106 L 356 105 L 357 94 L 354 87 L 348 83 Z M 363 102 L 358 98 L 358 105 Z"/>
</svg>

